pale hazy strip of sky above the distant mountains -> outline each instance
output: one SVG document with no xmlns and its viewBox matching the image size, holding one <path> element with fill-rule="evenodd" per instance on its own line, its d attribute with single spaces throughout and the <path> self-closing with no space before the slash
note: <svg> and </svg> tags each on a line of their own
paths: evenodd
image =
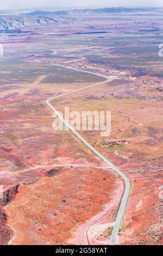
<svg viewBox="0 0 163 256">
<path fill-rule="evenodd" d="M 162 0 L 0 0 L 0 9 L 73 7 L 163 7 Z"/>
</svg>

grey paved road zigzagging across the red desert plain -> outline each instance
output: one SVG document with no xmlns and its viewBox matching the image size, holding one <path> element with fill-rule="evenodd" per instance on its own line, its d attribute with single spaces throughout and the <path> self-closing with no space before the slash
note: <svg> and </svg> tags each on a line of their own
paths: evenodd
<svg viewBox="0 0 163 256">
<path fill-rule="evenodd" d="M 60 118 L 60 120 L 68 127 L 68 129 L 70 129 L 74 135 L 76 135 L 85 145 L 87 148 L 89 148 L 93 153 L 95 153 L 98 157 L 100 157 L 106 164 L 108 164 L 108 167 L 112 170 L 115 170 L 116 173 L 118 173 L 121 178 L 123 179 L 124 181 L 124 185 L 125 185 L 125 188 L 124 188 L 124 193 L 123 193 L 123 196 L 122 196 L 122 200 L 121 200 L 121 203 L 120 203 L 120 207 L 118 209 L 118 212 L 117 212 L 117 216 L 116 216 L 116 220 L 115 220 L 115 225 L 114 225 L 114 228 L 112 230 L 112 233 L 111 233 L 111 236 L 110 236 L 110 241 L 109 241 L 109 244 L 110 245 L 116 245 L 117 244 L 117 239 L 118 239 L 118 231 L 120 229 L 120 225 L 121 225 L 121 221 L 122 221 L 122 217 L 124 215 L 124 211 L 126 209 L 126 204 L 127 204 L 127 200 L 128 200 L 128 197 L 129 197 L 129 193 L 130 193 L 130 181 L 129 179 L 127 178 L 127 176 L 121 172 L 120 169 L 118 169 L 116 166 L 114 166 L 114 164 L 112 164 L 108 159 L 106 159 L 101 153 L 99 153 L 95 148 L 92 147 L 91 144 L 89 144 L 75 129 L 74 127 L 72 127 L 70 124 L 67 123 L 66 120 L 64 120 L 64 118 L 62 118 L 62 116 L 60 115 L 60 113 L 57 111 L 57 109 L 55 109 L 53 107 L 53 105 L 51 104 L 51 101 L 52 100 L 55 100 L 57 99 L 58 97 L 62 97 L 64 95 L 67 95 L 67 94 L 72 94 L 72 93 L 76 93 L 76 92 L 79 92 L 80 90 L 85 90 L 85 89 L 88 89 L 90 87 L 94 87 L 94 86 L 98 86 L 99 84 L 103 84 L 103 83 L 106 83 L 106 82 L 109 82 L 111 80 L 111 77 L 108 77 L 108 76 L 105 76 L 105 75 L 102 75 L 102 74 L 97 74 L 97 73 L 94 73 L 94 72 L 91 72 L 91 71 L 85 71 L 85 70 L 79 70 L 79 69 L 75 69 L 75 68 L 71 68 L 70 66 L 64 66 L 64 65 L 60 65 L 60 64 L 54 64 L 56 66 L 60 66 L 61 68 L 66 68 L 66 69 L 71 69 L 71 70 L 77 70 L 77 71 L 80 71 L 80 72 L 86 72 L 86 73 L 89 73 L 89 74 L 93 74 L 93 75 L 96 75 L 96 76 L 101 76 L 101 77 L 104 77 L 106 78 L 105 81 L 103 82 L 99 82 L 99 83 L 96 83 L 96 84 L 93 84 L 92 86 L 87 86 L 87 87 L 83 87 L 83 88 L 80 88 L 80 89 L 77 89 L 77 90 L 73 90 L 71 92 L 68 92 L 68 93 L 64 93 L 64 94 L 60 94 L 58 96 L 54 96 L 54 97 L 51 97 L 49 98 L 48 100 L 45 101 L 45 103 L 49 106 L 49 108 L 52 109 L 52 111 Z"/>
</svg>

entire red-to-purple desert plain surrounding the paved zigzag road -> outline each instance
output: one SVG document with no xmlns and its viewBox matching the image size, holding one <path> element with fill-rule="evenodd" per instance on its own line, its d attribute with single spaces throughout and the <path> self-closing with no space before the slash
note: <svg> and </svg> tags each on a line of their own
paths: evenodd
<svg viewBox="0 0 163 256">
<path fill-rule="evenodd" d="M 108 243 L 122 180 L 103 169 L 70 131 L 53 131 L 52 111 L 45 104 L 49 97 L 90 86 L 101 77 L 53 65 L 65 62 L 114 77 L 53 105 L 59 111 L 65 106 L 79 112 L 111 111 L 109 137 L 81 133 L 131 182 L 118 243 L 162 244 L 161 15 L 159 10 L 149 15 L 85 14 L 55 24 L 47 19 L 48 26 L 37 24 L 37 29 L 28 19 L 29 27 L 19 33 L 1 33 L 1 245 L 87 243 L 85 233 L 91 244 Z"/>
</svg>

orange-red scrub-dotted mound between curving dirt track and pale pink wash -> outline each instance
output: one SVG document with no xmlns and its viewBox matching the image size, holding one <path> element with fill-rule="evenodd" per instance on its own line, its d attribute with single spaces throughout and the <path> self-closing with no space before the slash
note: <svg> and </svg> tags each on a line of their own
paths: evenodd
<svg viewBox="0 0 163 256">
<path fill-rule="evenodd" d="M 116 190 L 109 170 L 65 168 L 30 185 L 20 185 L 4 207 L 10 245 L 62 245 L 78 225 L 103 211 Z"/>
</svg>

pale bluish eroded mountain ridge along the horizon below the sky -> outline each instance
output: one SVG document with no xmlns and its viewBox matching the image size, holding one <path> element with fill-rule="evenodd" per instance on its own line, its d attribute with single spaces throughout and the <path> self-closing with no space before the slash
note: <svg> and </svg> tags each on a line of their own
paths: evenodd
<svg viewBox="0 0 163 256">
<path fill-rule="evenodd" d="M 65 9 L 65 10 L 19 10 L 0 11 L 0 31 L 23 29 L 32 26 L 60 25 L 72 22 L 79 15 L 107 15 L 114 13 L 134 13 L 159 10 L 157 8 L 92 8 L 92 9 Z"/>
</svg>

